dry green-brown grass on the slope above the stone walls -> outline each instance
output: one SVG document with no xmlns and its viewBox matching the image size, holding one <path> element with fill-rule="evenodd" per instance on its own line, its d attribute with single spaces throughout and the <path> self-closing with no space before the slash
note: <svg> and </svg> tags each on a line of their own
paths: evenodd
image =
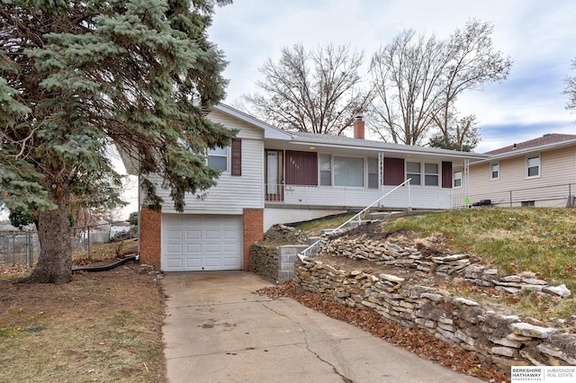
<svg viewBox="0 0 576 383">
<path fill-rule="evenodd" d="M 503 302 L 525 316 L 547 320 L 576 313 L 575 209 L 458 209 L 394 219 L 384 226 L 386 231 L 399 229 L 422 236 L 442 233 L 449 238 L 453 253 L 476 254 L 495 264 L 503 274 L 532 272 L 551 284 L 565 284 L 572 291 L 572 297 L 565 299 L 526 292 L 518 300 Z"/>
</svg>

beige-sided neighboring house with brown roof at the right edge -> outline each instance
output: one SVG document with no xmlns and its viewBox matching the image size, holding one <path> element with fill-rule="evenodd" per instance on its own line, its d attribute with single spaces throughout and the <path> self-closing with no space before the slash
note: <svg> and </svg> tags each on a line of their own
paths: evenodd
<svg viewBox="0 0 576 383">
<path fill-rule="evenodd" d="M 574 206 L 575 135 L 545 134 L 486 154 L 470 163 L 467 191 L 464 166 L 455 166 L 455 206 L 464 206 L 466 194 L 472 205 Z"/>
</svg>

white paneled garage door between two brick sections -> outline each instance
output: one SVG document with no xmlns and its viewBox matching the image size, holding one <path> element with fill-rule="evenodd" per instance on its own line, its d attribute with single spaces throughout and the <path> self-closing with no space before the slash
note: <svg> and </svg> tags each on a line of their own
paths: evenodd
<svg viewBox="0 0 576 383">
<path fill-rule="evenodd" d="M 242 269 L 242 217 L 164 215 L 164 272 Z"/>
</svg>

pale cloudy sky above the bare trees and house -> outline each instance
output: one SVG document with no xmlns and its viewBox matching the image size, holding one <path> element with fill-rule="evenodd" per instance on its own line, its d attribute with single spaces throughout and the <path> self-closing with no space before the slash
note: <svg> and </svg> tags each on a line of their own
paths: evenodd
<svg viewBox="0 0 576 383">
<path fill-rule="evenodd" d="M 563 94 L 564 79 L 576 75 L 575 17 L 573 0 L 235 0 L 216 8 L 209 34 L 229 61 L 224 102 L 234 104 L 257 91 L 266 59 L 295 43 L 350 44 L 369 60 L 403 29 L 445 39 L 470 18 L 492 22 L 495 49 L 513 61 L 509 77 L 456 104 L 480 121 L 475 151 L 486 152 L 545 133 L 576 134 Z"/>
</svg>

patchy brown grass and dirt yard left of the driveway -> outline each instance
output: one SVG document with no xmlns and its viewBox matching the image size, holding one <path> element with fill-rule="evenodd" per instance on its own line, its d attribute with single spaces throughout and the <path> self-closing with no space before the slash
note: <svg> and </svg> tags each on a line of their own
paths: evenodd
<svg viewBox="0 0 576 383">
<path fill-rule="evenodd" d="M 164 382 L 164 296 L 155 272 L 126 263 L 64 285 L 0 280 L 5 381 Z"/>
</svg>

